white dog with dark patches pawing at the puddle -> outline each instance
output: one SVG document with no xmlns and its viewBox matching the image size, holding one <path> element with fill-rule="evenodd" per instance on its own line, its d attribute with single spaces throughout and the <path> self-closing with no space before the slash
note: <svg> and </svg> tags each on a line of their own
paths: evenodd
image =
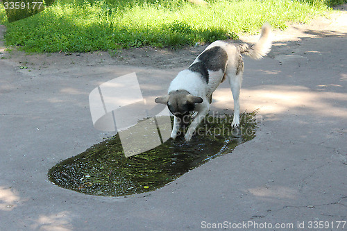
<svg viewBox="0 0 347 231">
<path fill-rule="evenodd" d="M 185 141 L 189 142 L 192 139 L 196 127 L 210 110 L 214 90 L 225 78 L 229 80 L 234 99 L 234 117 L 231 126 L 239 126 L 239 92 L 244 71 L 242 54 L 253 59 L 263 58 L 269 53 L 271 43 L 271 26 L 266 23 L 262 26 L 259 40 L 253 46 L 221 40 L 212 42 L 188 69 L 180 71 L 171 81 L 168 94 L 155 99 L 155 103 L 166 104 L 174 114 L 171 138 L 177 137 L 180 128 L 187 126 L 189 114 L 195 112 L 195 118 L 185 134 Z"/>
</svg>

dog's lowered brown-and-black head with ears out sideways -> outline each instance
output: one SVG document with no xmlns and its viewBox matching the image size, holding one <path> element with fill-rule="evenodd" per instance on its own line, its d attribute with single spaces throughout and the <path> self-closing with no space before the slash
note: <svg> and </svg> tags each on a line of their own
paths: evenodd
<svg viewBox="0 0 347 231">
<path fill-rule="evenodd" d="M 158 97 L 155 103 L 167 104 L 170 112 L 181 122 L 181 125 L 186 125 L 189 121 L 190 112 L 195 110 L 196 103 L 202 103 L 203 99 L 198 96 L 193 96 L 185 90 L 176 90 L 170 92 L 167 96 Z"/>
</svg>

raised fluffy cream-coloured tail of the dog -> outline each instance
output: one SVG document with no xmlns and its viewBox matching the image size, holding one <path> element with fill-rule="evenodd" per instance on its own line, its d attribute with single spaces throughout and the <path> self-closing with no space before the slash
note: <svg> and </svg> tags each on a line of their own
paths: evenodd
<svg viewBox="0 0 347 231">
<path fill-rule="evenodd" d="M 257 60 L 263 58 L 271 49 L 272 38 L 271 38 L 271 26 L 265 23 L 262 26 L 262 32 L 260 33 L 259 40 L 251 47 L 248 44 L 240 44 L 239 51 L 251 58 Z"/>
</svg>

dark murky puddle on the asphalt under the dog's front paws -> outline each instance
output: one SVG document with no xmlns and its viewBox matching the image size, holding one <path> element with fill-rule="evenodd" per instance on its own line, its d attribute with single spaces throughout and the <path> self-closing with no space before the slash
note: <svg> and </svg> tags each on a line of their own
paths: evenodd
<svg viewBox="0 0 347 231">
<path fill-rule="evenodd" d="M 153 191 L 253 139 L 257 128 L 255 114 L 241 114 L 240 128 L 230 127 L 232 116 L 228 114 L 209 116 L 191 142 L 185 142 L 180 135 L 131 157 L 124 156 L 117 134 L 53 166 L 49 180 L 59 187 L 98 196 Z"/>
</svg>

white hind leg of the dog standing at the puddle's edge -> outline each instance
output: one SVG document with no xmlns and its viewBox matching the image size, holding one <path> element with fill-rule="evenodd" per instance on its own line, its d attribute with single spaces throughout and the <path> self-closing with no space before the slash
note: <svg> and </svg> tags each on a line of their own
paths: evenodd
<svg viewBox="0 0 347 231">
<path fill-rule="evenodd" d="M 234 99 L 234 119 L 232 119 L 231 126 L 238 127 L 239 126 L 239 92 L 242 85 L 242 71 L 240 71 L 237 75 L 228 74 L 228 79 L 230 83 L 230 89 L 232 92 L 232 98 Z"/>
</svg>

